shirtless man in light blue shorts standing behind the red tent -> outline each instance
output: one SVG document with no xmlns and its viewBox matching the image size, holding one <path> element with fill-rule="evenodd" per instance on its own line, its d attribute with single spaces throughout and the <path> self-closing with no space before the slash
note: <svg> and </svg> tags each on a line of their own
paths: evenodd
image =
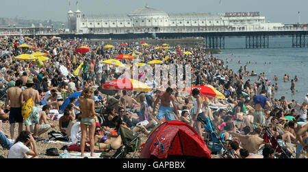
<svg viewBox="0 0 308 172">
<path fill-rule="evenodd" d="M 179 112 L 177 111 L 177 105 L 175 104 L 175 96 L 172 95 L 172 88 L 167 88 L 165 93 L 160 93 L 154 101 L 153 106 L 153 116 L 155 116 L 155 108 L 157 103 L 161 102 L 157 114 L 157 119 L 159 123 L 162 123 L 162 119 L 166 116 L 166 121 L 170 121 L 170 112 L 172 112 L 172 108 L 170 108 L 170 101 L 172 101 L 173 108 L 175 110 L 175 114 L 179 116 Z M 180 116 L 179 116 L 180 118 Z"/>
</svg>

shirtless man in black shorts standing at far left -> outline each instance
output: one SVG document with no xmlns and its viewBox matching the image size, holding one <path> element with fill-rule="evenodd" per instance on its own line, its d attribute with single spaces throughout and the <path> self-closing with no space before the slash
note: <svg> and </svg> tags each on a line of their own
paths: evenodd
<svg viewBox="0 0 308 172">
<path fill-rule="evenodd" d="M 4 108 L 6 109 L 10 101 L 10 134 L 11 139 L 14 139 L 15 123 L 18 123 L 18 135 L 23 131 L 23 116 L 21 116 L 21 87 L 23 86 L 23 80 L 18 79 L 15 82 L 15 86 L 8 88 L 7 97 L 5 99 Z"/>
</svg>

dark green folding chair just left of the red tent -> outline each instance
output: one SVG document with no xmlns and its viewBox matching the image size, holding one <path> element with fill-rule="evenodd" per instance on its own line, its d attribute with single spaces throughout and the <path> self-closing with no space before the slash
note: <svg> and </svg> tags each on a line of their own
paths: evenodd
<svg viewBox="0 0 308 172">
<path fill-rule="evenodd" d="M 131 130 L 127 130 L 125 127 L 120 127 L 120 136 L 122 139 L 123 145 L 116 149 L 116 153 L 112 156 L 112 158 L 125 158 L 128 153 L 134 152 L 133 157 L 135 156 L 138 149 L 140 149 L 141 140 L 140 134 L 134 135 Z"/>
</svg>

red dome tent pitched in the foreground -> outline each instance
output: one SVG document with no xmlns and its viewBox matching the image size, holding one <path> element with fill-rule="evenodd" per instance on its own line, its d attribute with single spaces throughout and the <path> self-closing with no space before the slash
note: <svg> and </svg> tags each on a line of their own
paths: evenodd
<svg viewBox="0 0 308 172">
<path fill-rule="evenodd" d="M 211 158 L 211 151 L 192 127 L 181 121 L 166 121 L 146 140 L 141 156 L 142 158 Z"/>
</svg>

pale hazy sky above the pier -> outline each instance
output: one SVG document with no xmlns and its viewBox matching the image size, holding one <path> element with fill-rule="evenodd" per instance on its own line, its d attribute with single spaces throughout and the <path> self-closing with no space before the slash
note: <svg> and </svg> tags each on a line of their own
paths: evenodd
<svg viewBox="0 0 308 172">
<path fill-rule="evenodd" d="M 146 3 L 164 12 L 260 12 L 270 22 L 308 23 L 308 0 L 78 0 L 84 14 L 127 14 Z M 76 0 L 70 0 L 72 11 Z M 68 0 L 1 0 L 0 17 L 67 21 Z"/>
</svg>

